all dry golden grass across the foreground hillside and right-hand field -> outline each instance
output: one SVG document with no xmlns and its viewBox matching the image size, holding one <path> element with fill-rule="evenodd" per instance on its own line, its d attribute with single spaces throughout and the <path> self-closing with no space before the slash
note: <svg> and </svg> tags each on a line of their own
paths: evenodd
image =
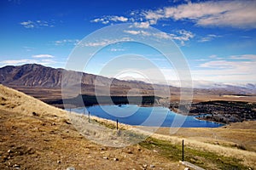
<svg viewBox="0 0 256 170">
<path fill-rule="evenodd" d="M 177 161 L 168 160 L 154 150 L 143 149 L 138 144 L 120 149 L 95 144 L 73 127 L 73 121 L 81 121 L 81 117 L 73 113 L 69 116 L 76 116 L 78 119 L 73 117 L 68 120 L 66 111 L 0 85 L 0 169 L 12 168 L 15 164 L 21 169 L 65 169 L 70 166 L 77 169 L 140 169 L 143 164 L 154 164 L 154 169 L 184 168 Z M 91 118 L 104 125 L 115 125 L 115 122 L 109 120 Z M 87 120 L 86 117 L 83 119 Z M 121 123 L 119 127 L 133 128 Z M 147 131 L 152 132 L 153 129 L 154 127 L 133 128 L 137 133 L 143 134 L 148 134 Z M 107 134 L 105 131 L 85 133 L 92 133 L 100 138 Z M 186 147 L 238 158 L 244 165 L 256 167 L 255 133 L 255 122 L 242 122 L 225 128 L 180 128 L 172 135 L 169 128 L 160 128 L 153 137 L 173 144 L 181 144 L 182 139 L 185 139 Z M 238 149 L 240 146 L 236 144 L 244 144 L 241 146 L 247 150 L 241 150 L 242 147 Z M 108 159 L 104 159 L 105 156 Z M 118 158 L 119 161 L 113 161 L 113 158 Z"/>
</svg>

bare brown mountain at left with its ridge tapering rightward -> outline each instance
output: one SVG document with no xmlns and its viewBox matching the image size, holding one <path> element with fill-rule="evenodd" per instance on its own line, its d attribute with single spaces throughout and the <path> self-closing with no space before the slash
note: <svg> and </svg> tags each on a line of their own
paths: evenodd
<svg viewBox="0 0 256 170">
<path fill-rule="evenodd" d="M 61 88 L 63 75 L 68 86 L 82 87 L 86 94 L 88 90 L 93 93 L 94 88 L 112 88 L 114 94 L 127 94 L 131 88 L 137 88 L 144 94 L 154 94 L 152 84 L 137 81 L 124 81 L 115 78 L 101 77 L 79 71 L 67 71 L 65 69 L 55 69 L 38 64 L 26 64 L 19 66 L 4 66 L 0 68 L 0 83 L 7 86 L 25 86 L 39 88 Z M 96 82 L 97 81 L 97 82 Z M 162 90 L 162 86 L 156 85 Z"/>
</svg>

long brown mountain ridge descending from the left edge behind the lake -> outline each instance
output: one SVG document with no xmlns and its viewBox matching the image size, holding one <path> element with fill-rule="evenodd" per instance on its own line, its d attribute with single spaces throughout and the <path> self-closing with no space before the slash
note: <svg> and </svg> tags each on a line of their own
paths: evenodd
<svg viewBox="0 0 256 170">
<path fill-rule="evenodd" d="M 33 86 L 33 87 L 61 87 L 62 77 L 65 74 L 67 80 L 73 85 L 95 85 L 96 79 L 99 84 L 114 86 L 130 86 L 131 88 L 148 88 L 150 84 L 145 82 L 129 82 L 113 78 L 101 77 L 78 71 L 55 69 L 44 65 L 26 64 L 19 66 L 4 66 L 0 68 L 0 82 L 7 85 Z M 79 77 L 81 77 L 80 82 Z M 76 78 L 78 80 L 76 80 Z"/>
</svg>

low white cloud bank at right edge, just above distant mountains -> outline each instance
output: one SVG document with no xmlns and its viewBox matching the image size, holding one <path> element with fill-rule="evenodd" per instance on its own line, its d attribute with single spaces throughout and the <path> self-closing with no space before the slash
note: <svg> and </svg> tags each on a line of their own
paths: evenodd
<svg viewBox="0 0 256 170">
<path fill-rule="evenodd" d="M 229 56 L 226 59 L 212 60 L 199 65 L 192 76 L 198 80 L 217 82 L 255 82 L 256 55 L 244 54 Z"/>
</svg>

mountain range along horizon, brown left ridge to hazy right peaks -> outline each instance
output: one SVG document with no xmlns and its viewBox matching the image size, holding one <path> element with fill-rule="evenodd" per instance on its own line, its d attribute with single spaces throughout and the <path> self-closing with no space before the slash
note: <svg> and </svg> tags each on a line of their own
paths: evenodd
<svg viewBox="0 0 256 170">
<path fill-rule="evenodd" d="M 65 75 L 67 81 L 63 81 L 63 75 Z M 105 91 L 108 91 L 109 87 L 111 88 L 112 94 L 118 95 L 127 93 L 136 94 L 138 92 L 144 95 L 152 95 L 155 91 L 165 95 L 167 88 L 172 93 L 179 92 L 179 88 L 174 86 L 166 87 L 166 85 L 150 84 L 134 79 L 119 80 L 79 71 L 67 71 L 61 68 L 55 69 L 38 64 L 8 65 L 0 68 L 0 83 L 7 86 L 61 88 L 61 86 L 65 86 L 63 82 L 73 87 L 82 87 L 82 93 L 84 94 L 94 94 L 95 89 L 98 89 L 104 94 Z M 240 86 L 207 81 L 194 81 L 194 83 L 195 92 L 204 90 L 207 90 L 208 93 L 216 93 L 218 91 L 220 94 L 255 94 L 256 92 L 256 85 L 252 83 Z M 176 83 L 170 82 L 170 84 L 175 85 Z M 133 89 L 132 92 L 131 89 Z"/>
</svg>

